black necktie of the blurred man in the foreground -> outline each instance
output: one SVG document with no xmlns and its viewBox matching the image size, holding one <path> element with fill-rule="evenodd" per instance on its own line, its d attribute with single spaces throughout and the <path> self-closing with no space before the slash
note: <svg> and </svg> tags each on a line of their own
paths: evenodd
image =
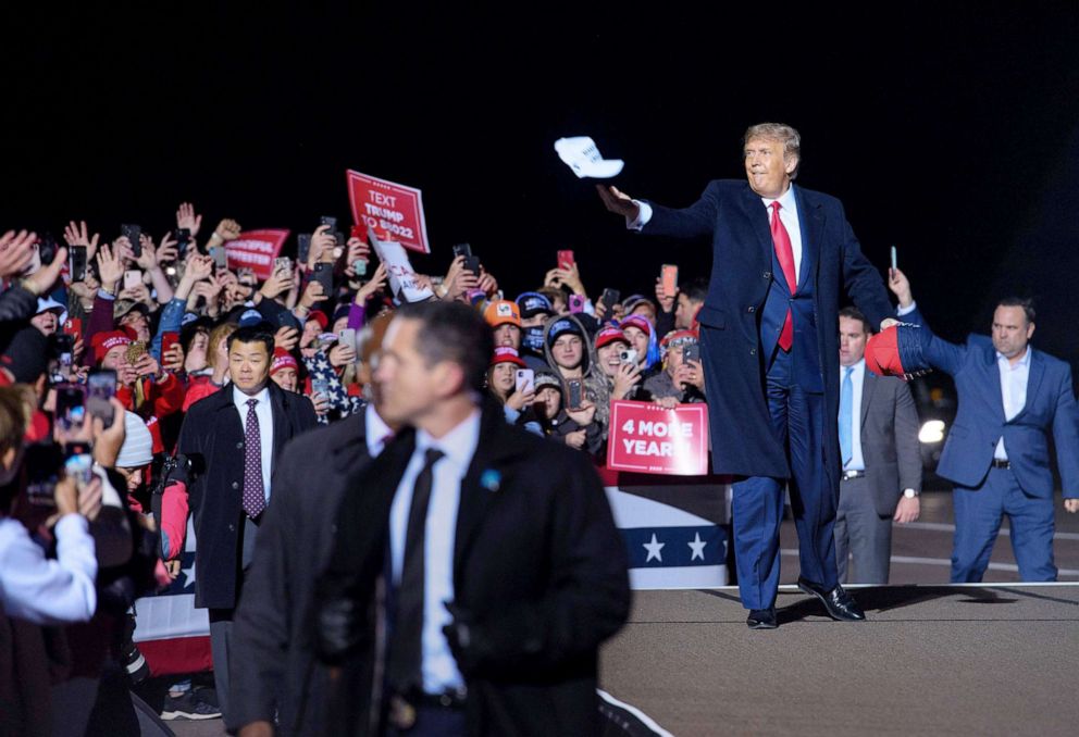
<svg viewBox="0 0 1079 737">
<path fill-rule="evenodd" d="M 412 507 L 408 512 L 408 529 L 405 533 L 405 563 L 397 587 L 397 613 L 386 670 L 389 684 L 398 694 L 407 694 L 423 685 L 420 673 L 423 651 L 423 537 L 434 465 L 443 455 L 441 450 L 427 449 L 423 469 L 412 487 Z"/>
</svg>

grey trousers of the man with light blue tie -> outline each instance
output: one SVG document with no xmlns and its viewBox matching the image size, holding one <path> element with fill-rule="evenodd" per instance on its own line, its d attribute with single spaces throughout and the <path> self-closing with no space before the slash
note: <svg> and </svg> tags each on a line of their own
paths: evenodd
<svg viewBox="0 0 1079 737">
<path fill-rule="evenodd" d="M 892 517 L 877 513 L 869 479 L 840 482 L 835 513 L 835 566 L 840 583 L 886 584 L 892 554 Z M 854 555 L 854 572 L 847 559 Z"/>
</svg>

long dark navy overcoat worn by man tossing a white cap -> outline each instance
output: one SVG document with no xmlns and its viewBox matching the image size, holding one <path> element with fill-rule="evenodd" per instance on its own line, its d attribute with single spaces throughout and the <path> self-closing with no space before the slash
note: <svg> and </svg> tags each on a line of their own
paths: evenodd
<svg viewBox="0 0 1079 737">
<path fill-rule="evenodd" d="M 794 192 L 802 226 L 799 288 L 791 298 L 795 374 L 799 385 L 824 394 L 824 467 L 838 490 L 840 292 L 845 290 L 872 325 L 892 316 L 892 308 L 840 201 L 802 187 Z M 774 274 L 768 211 L 743 179 L 710 182 L 700 199 L 684 210 L 650 204 L 653 216 L 643 233 L 711 236 L 711 280 L 698 320 L 707 350 L 705 371 L 716 377 L 708 386 L 712 471 L 790 477 L 786 450 L 772 429 L 765 397 L 764 362 L 781 324 L 772 324 L 777 321 L 761 308 L 774 285 L 786 287 Z M 807 380 L 817 386 L 807 387 Z"/>
</svg>

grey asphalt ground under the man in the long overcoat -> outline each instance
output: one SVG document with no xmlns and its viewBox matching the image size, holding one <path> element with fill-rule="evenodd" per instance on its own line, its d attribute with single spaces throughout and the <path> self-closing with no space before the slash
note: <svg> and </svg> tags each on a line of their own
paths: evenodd
<svg viewBox="0 0 1079 737">
<path fill-rule="evenodd" d="M 1079 583 L 1079 514 L 1057 504 L 1059 580 Z M 673 735 L 1074 735 L 1079 585 L 1019 579 L 1001 529 L 982 586 L 947 586 L 952 495 L 927 491 L 921 519 L 895 525 L 888 587 L 852 587 L 865 623 L 838 623 L 781 590 L 780 628 L 752 632 L 734 588 L 638 591 L 601 653 L 601 686 Z M 798 576 L 793 522 L 782 584 Z M 223 735 L 220 720 L 171 722 Z"/>
</svg>

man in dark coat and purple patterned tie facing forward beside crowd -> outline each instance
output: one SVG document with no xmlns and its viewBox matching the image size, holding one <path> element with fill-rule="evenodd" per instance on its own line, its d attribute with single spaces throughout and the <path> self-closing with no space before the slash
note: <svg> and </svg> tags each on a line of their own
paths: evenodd
<svg viewBox="0 0 1079 737">
<path fill-rule="evenodd" d="M 221 711 L 228 715 L 233 615 L 251 565 L 270 478 L 285 444 L 317 425 L 314 408 L 269 380 L 273 334 L 259 325 L 228 337 L 231 383 L 190 407 L 176 452 L 202 472 L 186 482 L 198 540 L 195 605 L 210 610 Z"/>
</svg>

